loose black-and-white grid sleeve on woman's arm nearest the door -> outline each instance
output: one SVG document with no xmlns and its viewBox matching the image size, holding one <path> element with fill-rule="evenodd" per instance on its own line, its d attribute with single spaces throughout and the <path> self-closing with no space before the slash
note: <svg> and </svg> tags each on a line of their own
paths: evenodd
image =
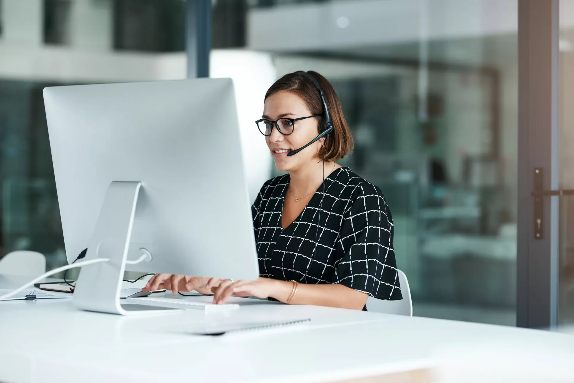
<svg viewBox="0 0 574 383">
<path fill-rule="evenodd" d="M 393 249 L 393 218 L 381 190 L 362 183 L 343 214 L 332 283 L 372 297 L 402 299 Z"/>
</svg>

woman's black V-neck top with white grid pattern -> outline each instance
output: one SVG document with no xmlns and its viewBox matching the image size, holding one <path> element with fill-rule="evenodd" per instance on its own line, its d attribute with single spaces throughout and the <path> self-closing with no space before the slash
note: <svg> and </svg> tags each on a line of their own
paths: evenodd
<svg viewBox="0 0 574 383">
<path fill-rule="evenodd" d="M 286 174 L 266 181 L 251 207 L 259 274 L 300 283 L 342 284 L 378 299 L 402 299 L 393 217 L 381 189 L 349 168 L 336 169 L 325 179 L 322 208 L 323 185 L 282 229 L 289 179 Z"/>
</svg>

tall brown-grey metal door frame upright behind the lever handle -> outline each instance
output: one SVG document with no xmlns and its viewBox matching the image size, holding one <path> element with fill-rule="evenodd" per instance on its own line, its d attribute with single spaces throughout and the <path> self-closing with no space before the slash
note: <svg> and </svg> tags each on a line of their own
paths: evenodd
<svg viewBox="0 0 574 383">
<path fill-rule="evenodd" d="M 559 200 L 542 201 L 542 233 L 534 231 L 535 168 L 542 187 L 557 189 L 559 0 L 518 0 L 517 326 L 557 324 Z"/>
</svg>

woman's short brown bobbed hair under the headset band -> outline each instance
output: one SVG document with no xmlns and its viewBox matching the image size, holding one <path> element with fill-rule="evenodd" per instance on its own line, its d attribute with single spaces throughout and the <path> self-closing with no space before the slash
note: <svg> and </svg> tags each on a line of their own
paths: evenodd
<svg viewBox="0 0 574 383">
<path fill-rule="evenodd" d="M 314 71 L 308 71 L 307 73 L 315 77 L 319 86 L 323 89 L 323 95 L 325 96 L 325 102 L 327 102 L 334 128 L 333 132 L 325 140 L 325 146 L 319 150 L 318 155 L 321 158 L 325 156 L 325 161 L 339 160 L 353 149 L 353 136 L 343 115 L 343 108 L 341 107 L 339 96 L 336 94 L 331 83 L 319 73 Z M 322 131 L 322 128 L 325 126 L 323 103 L 321 102 L 319 90 L 317 90 L 312 80 L 302 73 L 288 73 L 278 79 L 269 90 L 267 90 L 265 99 L 282 90 L 295 92 L 301 96 L 311 114 L 323 115 L 319 121 L 319 131 Z"/>
</svg>

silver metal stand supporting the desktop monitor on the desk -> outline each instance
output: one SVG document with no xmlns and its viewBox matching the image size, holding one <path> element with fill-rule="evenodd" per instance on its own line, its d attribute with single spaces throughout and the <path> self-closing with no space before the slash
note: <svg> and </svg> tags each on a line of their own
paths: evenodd
<svg viewBox="0 0 574 383">
<path fill-rule="evenodd" d="M 110 258 L 110 261 L 88 265 L 80 271 L 73 293 L 73 304 L 80 310 L 120 315 L 181 311 L 120 303 L 123 272 L 140 188 L 141 182 L 123 181 L 114 181 L 108 187 L 94 233 L 88 243 L 86 260 Z"/>
</svg>

